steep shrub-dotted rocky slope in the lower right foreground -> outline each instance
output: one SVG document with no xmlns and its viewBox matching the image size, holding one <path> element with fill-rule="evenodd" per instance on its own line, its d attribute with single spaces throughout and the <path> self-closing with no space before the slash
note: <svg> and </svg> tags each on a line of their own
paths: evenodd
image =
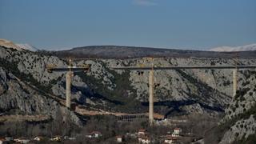
<svg viewBox="0 0 256 144">
<path fill-rule="evenodd" d="M 256 72 L 244 71 L 245 82 L 226 109 L 220 126 L 226 132 L 220 143 L 254 143 L 256 141 Z"/>
</svg>

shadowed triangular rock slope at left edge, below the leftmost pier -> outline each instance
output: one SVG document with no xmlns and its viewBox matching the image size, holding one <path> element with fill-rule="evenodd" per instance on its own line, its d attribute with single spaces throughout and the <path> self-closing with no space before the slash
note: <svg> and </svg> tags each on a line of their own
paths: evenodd
<svg viewBox="0 0 256 144">
<path fill-rule="evenodd" d="M 49 96 L 38 93 L 37 89 L 22 82 L 14 74 L 6 73 L 2 67 L 0 67 L 0 79 L 4 84 L 1 85 L 4 93 L 0 94 L 0 110 L 2 112 L 16 110 L 18 114 L 46 114 L 50 118 L 55 118 L 59 114 L 64 118 L 69 115 L 72 122 L 78 126 L 82 125 L 80 119 L 73 112 L 60 106 Z M 61 109 L 60 112 L 58 109 Z"/>
</svg>

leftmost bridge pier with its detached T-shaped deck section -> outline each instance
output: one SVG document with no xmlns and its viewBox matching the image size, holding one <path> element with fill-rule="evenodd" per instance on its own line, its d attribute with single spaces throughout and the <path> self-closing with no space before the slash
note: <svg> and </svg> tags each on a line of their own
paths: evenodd
<svg viewBox="0 0 256 144">
<path fill-rule="evenodd" d="M 69 59 L 69 65 L 67 67 L 57 67 L 54 64 L 46 66 L 46 70 L 49 73 L 52 72 L 66 72 L 66 107 L 70 108 L 70 96 L 71 96 L 71 81 L 74 77 L 74 72 L 87 72 L 90 70 L 90 65 L 85 64 L 82 66 L 72 66 L 72 60 Z"/>
</svg>

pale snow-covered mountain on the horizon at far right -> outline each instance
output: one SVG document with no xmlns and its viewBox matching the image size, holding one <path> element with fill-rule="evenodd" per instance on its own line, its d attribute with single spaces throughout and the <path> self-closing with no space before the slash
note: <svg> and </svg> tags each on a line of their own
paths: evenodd
<svg viewBox="0 0 256 144">
<path fill-rule="evenodd" d="M 210 51 L 219 51 L 219 52 L 231 52 L 231 51 L 254 51 L 256 50 L 256 43 L 246 45 L 246 46 L 220 46 L 210 49 Z"/>
</svg>

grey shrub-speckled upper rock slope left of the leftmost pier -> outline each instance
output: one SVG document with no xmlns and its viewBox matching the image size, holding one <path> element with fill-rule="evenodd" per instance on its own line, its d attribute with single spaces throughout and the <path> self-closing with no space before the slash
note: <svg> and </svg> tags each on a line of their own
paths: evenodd
<svg viewBox="0 0 256 144">
<path fill-rule="evenodd" d="M 46 66 L 63 67 L 66 63 L 57 57 L 43 56 L 30 51 L 11 50 L 1 47 L 0 58 L 17 65 L 18 70 L 24 74 L 31 74 L 40 83 L 49 83 L 50 80 L 63 76 L 63 73 L 50 74 Z"/>
</svg>

